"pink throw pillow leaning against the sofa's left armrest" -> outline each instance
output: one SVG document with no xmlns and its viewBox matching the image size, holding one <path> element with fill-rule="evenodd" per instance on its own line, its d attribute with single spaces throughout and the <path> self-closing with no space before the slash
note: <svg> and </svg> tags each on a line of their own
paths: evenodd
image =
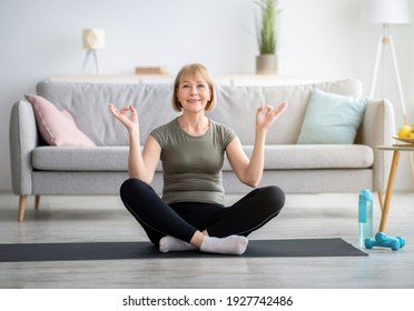
<svg viewBox="0 0 414 311">
<path fill-rule="evenodd" d="M 50 146 L 96 146 L 79 130 L 67 110 L 59 111 L 50 101 L 36 94 L 24 94 L 24 98 L 33 107 L 39 132 L 47 143 Z"/>
</svg>

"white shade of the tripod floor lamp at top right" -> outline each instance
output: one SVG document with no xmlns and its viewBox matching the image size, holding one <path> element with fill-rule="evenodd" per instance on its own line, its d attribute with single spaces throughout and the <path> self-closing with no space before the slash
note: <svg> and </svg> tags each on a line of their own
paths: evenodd
<svg viewBox="0 0 414 311">
<path fill-rule="evenodd" d="M 410 0 L 365 0 L 363 20 L 367 23 L 410 24 Z"/>
</svg>

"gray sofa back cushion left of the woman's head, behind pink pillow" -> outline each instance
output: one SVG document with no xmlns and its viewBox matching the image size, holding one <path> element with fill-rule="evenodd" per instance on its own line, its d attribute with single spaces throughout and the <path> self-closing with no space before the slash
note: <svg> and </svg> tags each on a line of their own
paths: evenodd
<svg viewBox="0 0 414 311">
<path fill-rule="evenodd" d="M 172 86 L 61 82 L 45 80 L 37 92 L 59 109 L 70 111 L 79 127 L 97 146 L 128 146 L 128 132 L 108 110 L 112 102 L 120 108 L 132 104 L 138 112 L 140 139 L 177 117 L 172 110 Z M 93 116 L 93 124 L 91 124 Z"/>
</svg>

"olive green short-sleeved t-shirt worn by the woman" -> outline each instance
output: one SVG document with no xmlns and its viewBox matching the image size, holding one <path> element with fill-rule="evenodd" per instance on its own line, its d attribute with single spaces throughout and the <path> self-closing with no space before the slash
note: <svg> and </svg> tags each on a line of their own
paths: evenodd
<svg viewBox="0 0 414 311">
<path fill-rule="evenodd" d="M 186 133 L 178 118 L 151 131 L 161 147 L 162 199 L 174 202 L 224 204 L 221 169 L 226 147 L 236 137 L 227 126 L 209 119 L 199 137 Z"/>
</svg>

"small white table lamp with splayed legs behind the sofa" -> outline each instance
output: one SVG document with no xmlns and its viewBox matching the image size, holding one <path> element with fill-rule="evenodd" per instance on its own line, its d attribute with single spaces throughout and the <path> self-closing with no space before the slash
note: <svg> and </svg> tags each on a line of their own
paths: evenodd
<svg viewBox="0 0 414 311">
<path fill-rule="evenodd" d="M 97 74 L 100 74 L 100 67 L 98 60 L 97 50 L 105 49 L 105 30 L 99 28 L 83 29 L 82 31 L 82 46 L 87 50 L 83 63 L 82 63 L 82 73 L 87 73 L 88 64 L 93 58 L 95 70 Z"/>
</svg>

